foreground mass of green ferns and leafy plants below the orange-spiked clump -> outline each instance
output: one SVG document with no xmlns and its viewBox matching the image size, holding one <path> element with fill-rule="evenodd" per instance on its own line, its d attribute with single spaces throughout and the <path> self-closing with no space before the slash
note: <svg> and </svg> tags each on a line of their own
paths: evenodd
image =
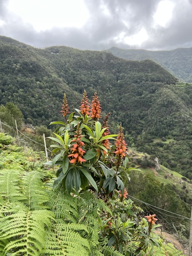
<svg viewBox="0 0 192 256">
<path fill-rule="evenodd" d="M 0 143 L 7 162 L 0 172 L 1 255 L 142 255 L 160 244 L 126 190 L 106 203 L 92 190 L 53 189 L 30 152 L 3 133 Z"/>
</svg>

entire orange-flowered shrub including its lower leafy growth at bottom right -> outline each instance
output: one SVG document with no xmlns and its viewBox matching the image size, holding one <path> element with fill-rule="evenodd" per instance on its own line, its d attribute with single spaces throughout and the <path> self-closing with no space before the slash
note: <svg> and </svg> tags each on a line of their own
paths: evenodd
<svg viewBox="0 0 192 256">
<path fill-rule="evenodd" d="M 97 209 L 98 242 L 103 247 L 113 246 L 123 255 L 143 255 L 142 252 L 150 253 L 154 245 L 160 247 L 159 238 L 153 232 L 158 226 L 155 215 L 146 216 L 148 222 L 140 219 L 138 214 L 142 209 L 127 199 L 125 185 L 134 168 L 129 167 L 121 124 L 117 135 L 110 134 L 108 113 L 101 125 L 98 121 L 101 106 L 96 93 L 91 111 L 84 91 L 80 110 L 74 109 L 71 114 L 64 95 L 61 112 L 66 122 L 51 123 L 59 125 L 55 137 L 51 138 L 56 142 L 52 145 L 56 155 L 50 164 L 58 166 L 54 188 L 62 184 L 62 189 L 77 196 L 87 190 L 109 207 L 110 210 Z"/>
</svg>

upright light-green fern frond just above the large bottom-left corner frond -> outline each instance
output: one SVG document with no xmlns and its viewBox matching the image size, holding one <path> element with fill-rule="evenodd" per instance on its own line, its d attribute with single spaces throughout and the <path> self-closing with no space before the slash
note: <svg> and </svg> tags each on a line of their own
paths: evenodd
<svg viewBox="0 0 192 256">
<path fill-rule="evenodd" d="M 32 172 L 25 172 L 23 174 L 23 187 L 25 189 L 26 204 L 31 210 L 48 208 L 44 203 L 49 201 L 49 197 L 45 191 L 43 176 L 41 173 L 33 170 Z"/>
</svg>

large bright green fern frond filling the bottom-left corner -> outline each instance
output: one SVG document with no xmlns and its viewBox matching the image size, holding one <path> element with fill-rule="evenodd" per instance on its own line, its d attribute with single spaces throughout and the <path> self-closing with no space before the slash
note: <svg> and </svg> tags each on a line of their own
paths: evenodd
<svg viewBox="0 0 192 256">
<path fill-rule="evenodd" d="M 53 218 L 53 212 L 45 209 L 22 210 L 1 218 L 0 241 L 1 243 L 9 241 L 4 247 L 4 253 L 14 251 L 39 255 L 45 247 L 45 226 L 49 226 Z"/>
</svg>

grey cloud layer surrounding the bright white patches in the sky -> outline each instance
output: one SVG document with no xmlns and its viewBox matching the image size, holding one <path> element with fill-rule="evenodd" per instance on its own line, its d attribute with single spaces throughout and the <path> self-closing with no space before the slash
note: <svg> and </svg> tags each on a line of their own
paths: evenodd
<svg viewBox="0 0 192 256">
<path fill-rule="evenodd" d="M 0 34 L 36 47 L 65 45 L 78 49 L 103 50 L 116 46 L 130 49 L 136 46 L 117 42 L 115 37 L 121 32 L 131 36 L 145 28 L 149 38 L 140 48 L 168 50 L 192 47 L 192 0 L 174 0 L 174 3 L 177 2 L 174 16 L 166 28 L 154 27 L 153 15 L 160 1 L 84 0 L 90 18 L 82 28 L 55 27 L 36 32 L 32 25 L 24 24 L 19 17 L 10 15 L 6 8 L 7 1 L 1 0 L 0 18 L 3 17 L 6 23 L 0 27 Z M 104 13 L 103 6 L 108 14 Z"/>
</svg>

